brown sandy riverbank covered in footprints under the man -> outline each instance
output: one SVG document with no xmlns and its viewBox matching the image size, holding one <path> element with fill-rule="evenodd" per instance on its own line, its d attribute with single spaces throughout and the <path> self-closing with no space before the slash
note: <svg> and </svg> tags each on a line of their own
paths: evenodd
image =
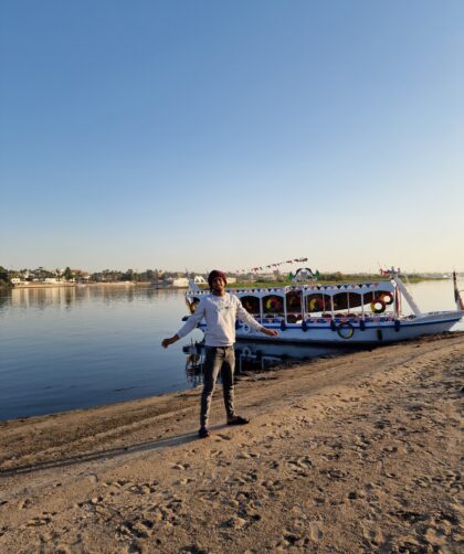
<svg viewBox="0 0 464 554">
<path fill-rule="evenodd" d="M 1 553 L 464 552 L 464 333 L 0 424 Z"/>
</svg>

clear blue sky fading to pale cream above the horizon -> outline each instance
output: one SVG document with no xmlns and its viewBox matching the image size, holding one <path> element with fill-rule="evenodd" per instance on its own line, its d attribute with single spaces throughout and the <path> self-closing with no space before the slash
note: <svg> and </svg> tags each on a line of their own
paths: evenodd
<svg viewBox="0 0 464 554">
<path fill-rule="evenodd" d="M 464 270 L 462 0 L 0 6 L 0 265 Z"/>
</svg>

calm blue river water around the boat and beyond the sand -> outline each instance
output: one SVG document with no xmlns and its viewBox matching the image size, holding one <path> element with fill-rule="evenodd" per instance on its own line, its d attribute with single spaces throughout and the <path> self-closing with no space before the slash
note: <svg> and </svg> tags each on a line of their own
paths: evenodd
<svg viewBox="0 0 464 554">
<path fill-rule="evenodd" d="M 423 311 L 455 308 L 451 280 L 412 285 L 411 291 Z M 202 333 L 196 330 L 167 350 L 160 345 L 186 313 L 182 290 L 83 286 L 0 292 L 0 419 L 198 386 L 182 347 Z M 464 323 L 454 329 L 464 330 Z M 239 348 L 255 353 L 252 344 Z M 328 353 L 263 348 L 262 365 Z"/>
</svg>

